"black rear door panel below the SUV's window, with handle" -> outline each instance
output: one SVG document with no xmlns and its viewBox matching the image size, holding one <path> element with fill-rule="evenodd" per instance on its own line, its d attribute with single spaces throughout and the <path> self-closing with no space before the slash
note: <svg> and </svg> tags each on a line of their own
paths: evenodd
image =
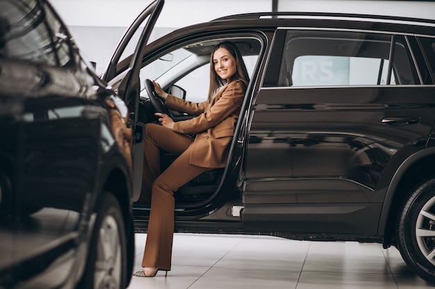
<svg viewBox="0 0 435 289">
<path fill-rule="evenodd" d="M 418 91 L 412 98 L 411 89 Z M 375 234 L 386 192 L 379 179 L 391 179 L 395 168 L 388 168 L 396 152 L 425 145 L 435 120 L 433 91 L 429 86 L 261 89 L 249 132 L 245 225 Z M 385 122 L 397 117 L 418 121 Z"/>
</svg>

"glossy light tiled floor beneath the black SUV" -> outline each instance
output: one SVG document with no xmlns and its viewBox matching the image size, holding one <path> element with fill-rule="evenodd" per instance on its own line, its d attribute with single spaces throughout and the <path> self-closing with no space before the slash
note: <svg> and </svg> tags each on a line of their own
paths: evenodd
<svg viewBox="0 0 435 289">
<path fill-rule="evenodd" d="M 136 234 L 135 271 L 146 234 Z M 129 289 L 423 289 L 397 249 L 356 242 L 267 236 L 175 234 L 165 278 L 133 277 Z"/>
</svg>

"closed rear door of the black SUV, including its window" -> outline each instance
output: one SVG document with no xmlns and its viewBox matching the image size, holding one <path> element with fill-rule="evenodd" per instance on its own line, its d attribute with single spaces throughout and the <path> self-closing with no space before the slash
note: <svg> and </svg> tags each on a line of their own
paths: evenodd
<svg viewBox="0 0 435 289">
<path fill-rule="evenodd" d="M 435 89 L 416 69 L 415 41 L 277 31 L 270 62 L 281 66 L 268 67 L 252 111 L 247 229 L 377 234 L 388 180 L 425 146 L 435 120 Z"/>
</svg>

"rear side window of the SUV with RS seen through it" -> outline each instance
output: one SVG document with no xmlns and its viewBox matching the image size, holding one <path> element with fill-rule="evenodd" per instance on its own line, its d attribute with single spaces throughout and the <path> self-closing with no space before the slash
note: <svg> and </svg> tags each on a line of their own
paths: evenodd
<svg viewBox="0 0 435 289">
<path fill-rule="evenodd" d="M 281 32 L 282 34 L 283 32 Z M 293 31 L 277 40 L 279 71 L 270 65 L 267 86 L 413 85 L 418 74 L 404 37 L 377 33 Z M 279 38 L 279 37 L 277 37 Z M 391 43 L 395 43 L 391 49 Z M 393 64 L 389 60 L 393 58 Z M 388 73 L 390 72 L 391 73 Z M 275 77 L 274 77 L 275 76 Z"/>
</svg>

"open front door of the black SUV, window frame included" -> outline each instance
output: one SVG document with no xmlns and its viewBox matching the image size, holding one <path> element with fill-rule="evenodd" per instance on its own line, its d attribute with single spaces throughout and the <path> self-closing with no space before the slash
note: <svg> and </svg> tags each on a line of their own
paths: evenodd
<svg viewBox="0 0 435 289">
<path fill-rule="evenodd" d="M 155 0 L 133 21 L 117 45 L 101 78 L 106 81 L 124 100 L 129 109 L 129 127 L 133 130 L 133 202 L 140 196 L 142 186 L 143 132 L 144 126 L 138 121 L 140 94 L 139 72 L 143 51 L 151 30 L 163 8 L 164 0 Z M 144 25 L 145 24 L 145 25 Z M 142 30 L 141 30 L 142 29 Z M 134 48 L 134 52 L 131 49 Z M 133 54 L 131 54 L 133 53 Z M 126 63 L 129 63 L 126 65 Z"/>
</svg>

